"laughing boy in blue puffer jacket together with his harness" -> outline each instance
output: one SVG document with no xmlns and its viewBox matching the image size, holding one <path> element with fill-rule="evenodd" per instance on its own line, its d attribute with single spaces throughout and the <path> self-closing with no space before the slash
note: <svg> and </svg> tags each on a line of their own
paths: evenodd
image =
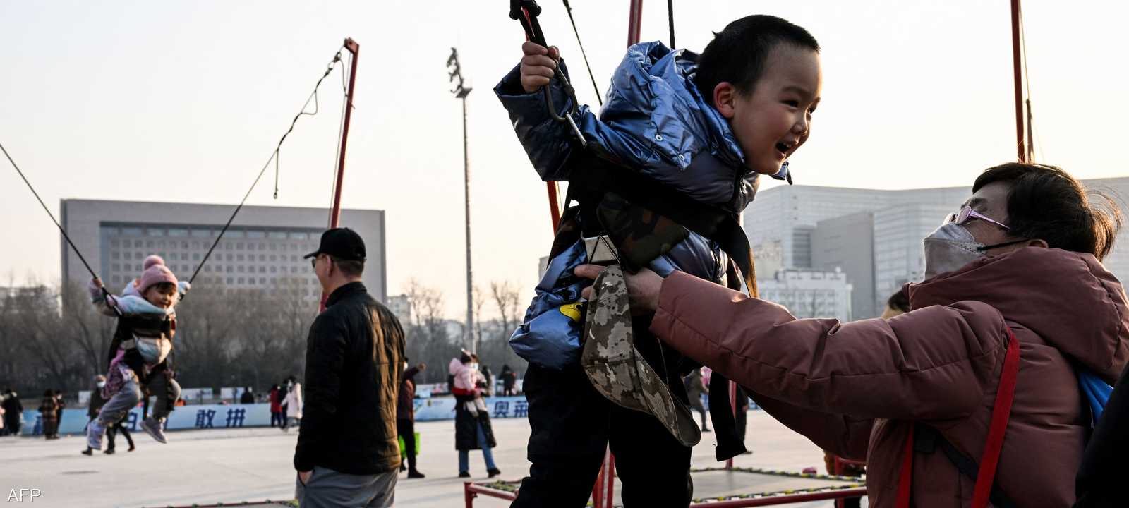
<svg viewBox="0 0 1129 508">
<path fill-rule="evenodd" d="M 674 413 L 684 418 L 627 409 L 638 386 L 614 386 L 623 400 L 610 403 L 597 392 L 594 369 L 580 365 L 590 315 L 577 303 L 590 281 L 574 269 L 606 261 L 596 255 L 603 244 L 588 240 L 607 238 L 611 262 L 625 270 L 682 271 L 755 295 L 737 216 L 753 200 L 760 175 L 791 181 L 787 159 L 807 141 L 820 102 L 820 46 L 804 28 L 772 16 L 730 23 L 700 54 L 660 42 L 636 44 L 614 71 L 598 114 L 568 93 L 555 47 L 526 42 L 522 52 L 495 93 L 539 176 L 569 182 L 567 204 L 579 204 L 562 214 L 549 270 L 510 339 L 530 361 L 532 427 L 532 466 L 513 506 L 583 506 L 609 445 L 625 506 L 685 506 L 693 490 L 691 447 L 701 435 L 685 408 L 681 376 L 694 366 L 658 344 L 648 331 L 650 315 L 627 316 L 615 325 L 631 331 L 637 358 L 660 378 L 651 388 L 668 392 L 683 406 Z M 719 375 L 711 382 L 727 384 Z M 710 388 L 718 398 L 711 408 L 728 404 L 727 387 Z M 719 461 L 745 452 L 732 413 L 711 413 Z M 593 421 L 592 414 L 607 418 Z"/>
</svg>

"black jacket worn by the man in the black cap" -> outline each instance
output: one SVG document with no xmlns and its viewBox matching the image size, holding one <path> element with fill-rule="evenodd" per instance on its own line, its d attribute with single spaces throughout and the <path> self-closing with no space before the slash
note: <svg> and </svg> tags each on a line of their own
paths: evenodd
<svg viewBox="0 0 1129 508">
<path fill-rule="evenodd" d="M 396 470 L 396 393 L 404 361 L 400 321 L 360 282 L 338 288 L 325 306 L 306 342 L 306 405 L 295 470 Z"/>
</svg>

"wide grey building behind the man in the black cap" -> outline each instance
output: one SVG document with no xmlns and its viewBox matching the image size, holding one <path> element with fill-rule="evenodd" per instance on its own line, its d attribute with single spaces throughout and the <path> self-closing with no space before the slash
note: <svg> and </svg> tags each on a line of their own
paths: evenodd
<svg viewBox="0 0 1129 508">
<path fill-rule="evenodd" d="M 230 205 L 62 200 L 62 225 L 111 290 L 140 277 L 146 256 L 157 254 L 181 280 L 201 265 L 234 211 Z M 297 284 L 305 298 L 321 288 L 303 256 L 317 249 L 329 212 L 315 208 L 244 207 L 203 264 L 195 284 L 229 289 L 278 289 Z M 362 281 L 387 301 L 385 224 L 382 210 L 342 210 L 341 226 L 365 239 Z M 85 283 L 89 273 L 62 240 L 63 280 Z"/>
</svg>

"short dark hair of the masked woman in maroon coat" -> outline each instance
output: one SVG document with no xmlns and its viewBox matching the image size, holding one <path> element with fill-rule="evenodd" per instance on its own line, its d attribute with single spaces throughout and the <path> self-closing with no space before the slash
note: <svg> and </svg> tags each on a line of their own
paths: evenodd
<svg viewBox="0 0 1129 508">
<path fill-rule="evenodd" d="M 1093 254 L 1099 260 L 1113 249 L 1121 229 L 1121 210 L 1108 195 L 1087 191 L 1056 166 L 1008 163 L 986 169 L 972 185 L 1003 182 L 1007 191 L 1010 235 L 1039 238 L 1053 248 Z"/>
</svg>

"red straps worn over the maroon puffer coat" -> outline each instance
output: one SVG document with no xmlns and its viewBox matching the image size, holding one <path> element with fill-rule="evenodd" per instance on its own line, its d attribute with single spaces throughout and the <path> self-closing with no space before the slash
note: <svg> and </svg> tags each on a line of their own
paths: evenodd
<svg viewBox="0 0 1129 508">
<path fill-rule="evenodd" d="M 936 429 L 920 423 L 914 423 L 905 439 L 905 453 L 902 459 L 901 479 L 898 484 L 898 508 L 909 508 L 911 483 L 913 480 L 913 453 L 930 453 L 936 445 L 940 445 L 945 456 L 956 468 L 969 478 L 977 480 L 972 489 L 972 508 L 984 508 L 988 501 L 992 505 L 1007 508 L 1014 507 L 1007 496 L 995 485 L 996 467 L 999 465 L 999 455 L 1004 448 L 1004 433 L 1007 430 L 1007 421 L 1012 413 L 1012 402 L 1015 398 L 1015 385 L 1019 374 L 1019 342 L 1015 339 L 1012 329 L 1007 329 L 1008 343 L 1007 352 L 1004 356 L 1004 371 L 1000 374 L 999 387 L 996 391 L 996 403 L 991 411 L 991 422 L 988 426 L 988 439 L 984 443 L 984 450 L 978 466 L 975 461 L 969 458 L 961 450 L 948 443 Z M 916 439 L 914 439 L 916 438 Z M 914 444 L 914 440 L 918 443 Z"/>
</svg>

